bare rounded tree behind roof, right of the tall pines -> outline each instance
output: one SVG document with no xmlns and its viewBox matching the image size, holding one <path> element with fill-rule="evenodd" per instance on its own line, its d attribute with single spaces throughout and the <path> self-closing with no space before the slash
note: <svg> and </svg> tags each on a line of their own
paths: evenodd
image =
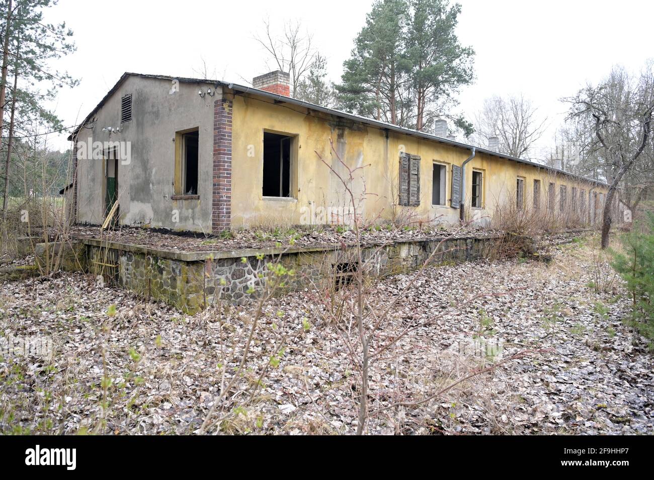
<svg viewBox="0 0 654 480">
<path fill-rule="evenodd" d="M 484 101 L 484 106 L 475 116 L 474 139 L 486 145 L 487 138 L 500 139 L 500 153 L 522 158 L 528 154 L 545 131 L 547 118 L 540 119 L 538 108 L 523 95 L 506 99 L 495 95 Z"/>
</svg>

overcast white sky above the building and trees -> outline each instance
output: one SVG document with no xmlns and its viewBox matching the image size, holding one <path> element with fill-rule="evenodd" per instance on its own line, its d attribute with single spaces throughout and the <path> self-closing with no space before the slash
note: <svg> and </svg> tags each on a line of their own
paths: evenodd
<svg viewBox="0 0 654 480">
<path fill-rule="evenodd" d="M 220 79 L 245 83 L 265 73 L 253 39 L 262 19 L 301 20 L 338 81 L 371 0 L 60 0 L 46 21 L 65 20 L 77 52 L 57 67 L 80 78 L 54 106 L 65 125 L 84 118 L 123 72 L 198 76 L 202 59 Z M 472 116 L 491 95 L 523 93 L 549 118 L 545 147 L 566 107 L 561 97 L 596 82 L 617 63 L 638 71 L 654 57 L 654 1 L 460 0 L 458 36 L 474 48 L 475 84 L 461 108 Z M 275 7 L 271 7 L 275 5 Z M 245 79 L 245 80 L 244 80 Z M 51 143 L 66 148 L 65 136 Z M 52 138 L 52 140 L 55 140 Z"/>
</svg>

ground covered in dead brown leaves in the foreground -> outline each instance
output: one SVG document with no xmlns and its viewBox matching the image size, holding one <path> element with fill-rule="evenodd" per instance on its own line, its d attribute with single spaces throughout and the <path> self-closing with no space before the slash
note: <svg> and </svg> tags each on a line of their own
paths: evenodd
<svg viewBox="0 0 654 480">
<path fill-rule="evenodd" d="M 371 371 L 371 411 L 428 396 L 521 351 L 540 353 L 509 360 L 432 402 L 383 410 L 366 431 L 653 433 L 654 362 L 645 339 L 623 324 L 623 286 L 594 291 L 589 242 L 550 253 L 549 264 L 516 259 L 424 270 L 382 325 L 388 338 L 413 329 Z M 388 302 L 409 278 L 375 281 L 370 304 Z M 356 430 L 357 368 L 343 333 L 351 325 L 326 322 L 319 295 L 307 285 L 264 306 L 247 368 L 207 431 Z M 188 317 L 82 274 L 5 283 L 4 338 L 48 336 L 54 347 L 51 359 L 3 351 L 0 430 L 198 432 L 222 373 L 229 377 L 240 360 L 252 315 L 243 306 Z M 470 339 L 502 345 L 501 355 L 461 351 Z"/>
</svg>

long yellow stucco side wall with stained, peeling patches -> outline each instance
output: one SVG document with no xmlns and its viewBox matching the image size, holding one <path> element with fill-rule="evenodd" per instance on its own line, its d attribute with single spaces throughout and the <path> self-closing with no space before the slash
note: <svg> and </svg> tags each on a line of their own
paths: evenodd
<svg viewBox="0 0 654 480">
<path fill-rule="evenodd" d="M 275 104 L 263 97 L 233 95 L 232 139 L 232 227 L 253 225 L 292 225 L 298 223 L 336 223 L 351 213 L 351 202 L 337 175 L 346 178 L 347 169 L 330 149 L 334 149 L 350 168 L 357 168 L 349 184 L 360 216 L 387 221 L 456 222 L 458 208 L 449 206 L 451 165 L 462 165 L 470 150 L 441 144 L 396 132 L 367 127 L 290 104 Z M 294 136 L 294 187 L 292 199 L 262 196 L 264 131 Z M 398 206 L 399 155 L 407 152 L 421 157 L 421 202 L 419 206 Z M 325 165 L 320 157 L 328 164 Z M 447 165 L 447 206 L 432 206 L 432 165 Z M 470 209 L 473 170 L 483 172 L 483 206 Z M 516 180 L 525 179 L 525 204 L 533 202 L 534 179 L 541 180 L 541 205 L 547 208 L 547 188 L 555 183 L 556 208 L 559 186 L 567 185 L 568 204 L 572 187 L 606 193 L 602 185 L 579 178 L 554 175 L 544 168 L 525 165 L 477 153 L 466 166 L 466 217 L 486 223 L 498 205 L 515 201 Z M 340 217 L 340 218 L 339 218 Z M 347 217 L 346 217 L 347 218 Z"/>
</svg>

